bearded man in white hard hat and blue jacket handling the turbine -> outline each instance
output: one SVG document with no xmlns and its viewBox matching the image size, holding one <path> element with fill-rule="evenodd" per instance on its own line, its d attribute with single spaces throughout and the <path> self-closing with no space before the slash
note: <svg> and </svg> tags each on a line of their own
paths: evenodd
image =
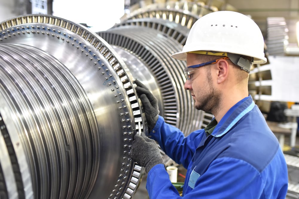
<svg viewBox="0 0 299 199">
<path fill-rule="evenodd" d="M 172 57 L 187 60 L 184 88 L 190 90 L 194 107 L 215 118 L 205 129 L 184 137 L 164 122 L 156 98 L 135 81 L 151 139 L 135 135 L 130 153 L 148 172 L 149 197 L 180 198 L 157 141 L 170 158 L 187 168 L 183 198 L 284 199 L 288 174 L 283 152 L 248 94 L 251 64 L 266 62 L 257 24 L 237 12 L 210 13 L 196 21 L 183 50 Z"/>
</svg>

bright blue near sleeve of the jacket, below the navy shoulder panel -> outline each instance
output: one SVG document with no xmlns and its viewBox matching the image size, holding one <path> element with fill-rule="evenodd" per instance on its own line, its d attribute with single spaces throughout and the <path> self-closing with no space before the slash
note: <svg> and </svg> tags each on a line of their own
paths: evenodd
<svg viewBox="0 0 299 199">
<path fill-rule="evenodd" d="M 260 173 L 250 164 L 234 158 L 219 158 L 199 175 L 193 189 L 188 183 L 185 185 L 188 191 L 181 197 L 162 166 L 156 165 L 148 173 L 147 191 L 151 199 L 260 198 L 265 187 Z"/>
</svg>

